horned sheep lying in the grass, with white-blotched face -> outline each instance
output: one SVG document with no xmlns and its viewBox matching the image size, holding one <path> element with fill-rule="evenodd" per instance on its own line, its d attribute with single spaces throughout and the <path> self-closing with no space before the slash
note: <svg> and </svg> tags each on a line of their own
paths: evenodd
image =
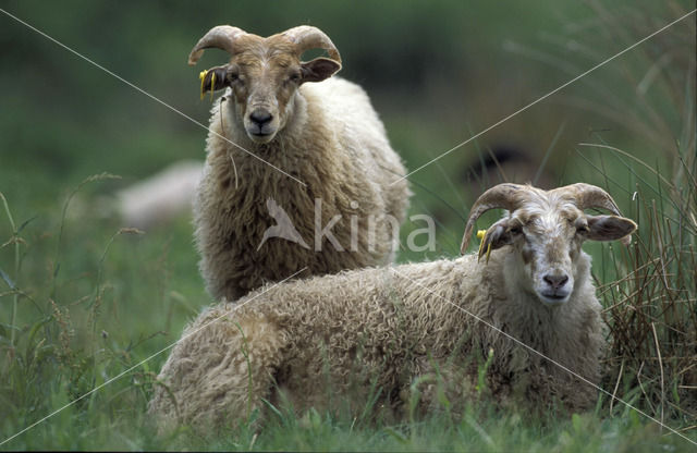
<svg viewBox="0 0 697 453">
<path fill-rule="evenodd" d="M 399 413 L 415 392 L 421 409 L 449 401 L 457 411 L 479 395 L 484 357 L 486 389 L 503 406 L 589 407 L 604 340 L 580 246 L 626 242 L 636 224 L 591 185 L 501 184 L 473 206 L 463 252 L 477 218 L 494 208 L 509 213 L 478 255 L 268 285 L 207 309 L 164 364 L 159 379 L 171 393 L 157 390 L 150 413 L 163 426 L 210 428 L 281 403 L 343 400 L 359 409 L 372 397 Z"/>
</svg>

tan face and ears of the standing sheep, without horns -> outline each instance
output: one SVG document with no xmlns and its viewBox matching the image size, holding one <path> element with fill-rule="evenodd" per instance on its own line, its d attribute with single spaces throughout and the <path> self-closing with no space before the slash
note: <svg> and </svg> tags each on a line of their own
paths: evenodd
<svg viewBox="0 0 697 453">
<path fill-rule="evenodd" d="M 323 81 L 341 68 L 326 58 L 301 62 L 295 45 L 281 35 L 245 35 L 237 39 L 236 47 L 240 51 L 229 64 L 209 72 L 217 72 L 220 79 L 213 89 L 232 89 L 235 117 L 257 144 L 271 142 L 283 130 L 303 83 Z M 211 78 L 206 78 L 204 85 L 210 87 Z"/>
</svg>

